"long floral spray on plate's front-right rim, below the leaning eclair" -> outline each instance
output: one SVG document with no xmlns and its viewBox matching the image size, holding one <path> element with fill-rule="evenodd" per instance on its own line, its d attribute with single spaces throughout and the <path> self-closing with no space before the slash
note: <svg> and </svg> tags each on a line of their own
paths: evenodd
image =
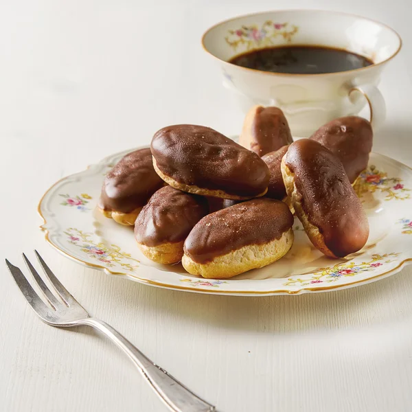
<svg viewBox="0 0 412 412">
<path fill-rule="evenodd" d="M 284 286 L 307 286 L 311 284 L 336 282 L 343 277 L 352 277 L 359 273 L 374 271 L 379 266 L 393 262 L 398 255 L 400 255 L 400 253 L 375 254 L 371 256 L 371 260 L 368 262 L 343 262 L 329 268 L 319 268 L 314 271 L 308 279 L 289 277 L 287 282 L 284 283 Z"/>
</svg>

